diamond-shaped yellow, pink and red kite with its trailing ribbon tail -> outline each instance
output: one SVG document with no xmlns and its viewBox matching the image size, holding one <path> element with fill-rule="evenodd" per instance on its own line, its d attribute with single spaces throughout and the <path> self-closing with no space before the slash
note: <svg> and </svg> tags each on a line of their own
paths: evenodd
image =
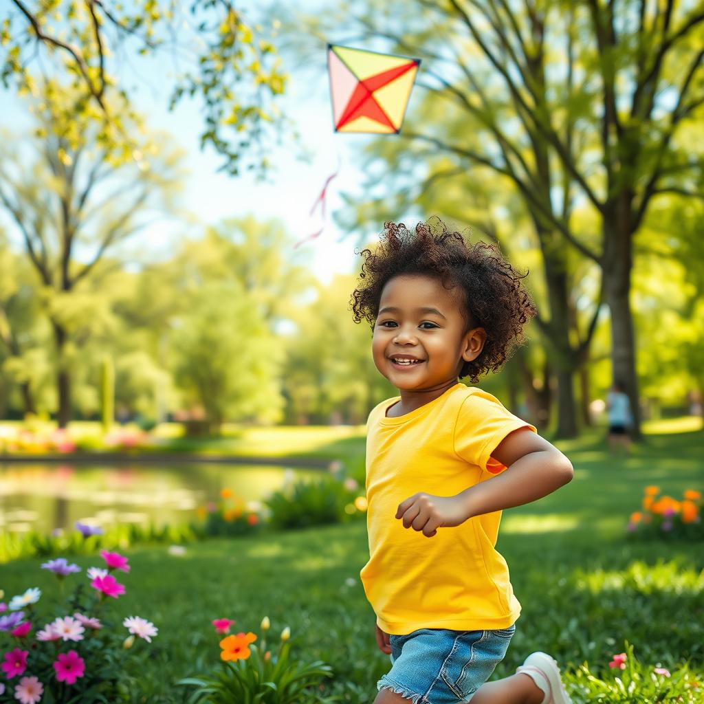
<svg viewBox="0 0 704 704">
<path fill-rule="evenodd" d="M 335 132 L 398 134 L 410 97 L 420 58 L 379 54 L 339 44 L 327 45 L 327 71 L 330 79 L 332 116 Z M 327 177 L 320 195 L 310 209 L 320 206 L 325 222 L 325 197 L 330 182 L 340 170 Z M 296 242 L 294 249 L 309 239 L 320 237 L 325 225 Z"/>
</svg>

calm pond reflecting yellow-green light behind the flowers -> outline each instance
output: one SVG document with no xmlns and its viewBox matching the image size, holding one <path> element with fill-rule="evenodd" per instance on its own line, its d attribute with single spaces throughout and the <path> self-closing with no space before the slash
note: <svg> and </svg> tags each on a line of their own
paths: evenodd
<svg viewBox="0 0 704 704">
<path fill-rule="evenodd" d="M 0 463 L 0 532 L 73 529 L 76 521 L 103 528 L 118 523 L 180 524 L 232 489 L 256 509 L 272 491 L 322 469 L 275 465 L 73 466 Z"/>
</svg>

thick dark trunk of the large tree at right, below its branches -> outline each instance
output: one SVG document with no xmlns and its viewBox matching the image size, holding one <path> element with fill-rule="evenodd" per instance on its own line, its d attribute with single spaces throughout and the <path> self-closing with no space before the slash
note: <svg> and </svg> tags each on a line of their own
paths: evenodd
<svg viewBox="0 0 704 704">
<path fill-rule="evenodd" d="M 631 401 L 632 434 L 641 437 L 641 412 L 636 375 L 636 343 L 629 294 L 631 290 L 631 198 L 607 204 L 604 212 L 604 293 L 611 312 L 611 368 Z"/>
</svg>

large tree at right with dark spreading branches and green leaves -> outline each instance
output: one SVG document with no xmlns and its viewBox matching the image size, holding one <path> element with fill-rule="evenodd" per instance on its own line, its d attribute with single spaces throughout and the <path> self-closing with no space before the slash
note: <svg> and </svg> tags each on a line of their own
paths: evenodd
<svg viewBox="0 0 704 704">
<path fill-rule="evenodd" d="M 637 431 L 633 241 L 657 196 L 700 195 L 704 160 L 684 149 L 681 136 L 704 105 L 704 9 L 672 0 L 422 0 L 416 7 L 409 13 L 408 4 L 390 2 L 380 14 L 367 6 L 358 24 L 424 58 L 427 88 L 472 120 L 458 142 L 432 122 L 401 134 L 503 175 L 548 246 L 562 237 L 598 265 L 611 313 L 612 373 L 627 386 Z M 575 202 L 597 213 L 598 241 L 572 231 Z"/>
</svg>

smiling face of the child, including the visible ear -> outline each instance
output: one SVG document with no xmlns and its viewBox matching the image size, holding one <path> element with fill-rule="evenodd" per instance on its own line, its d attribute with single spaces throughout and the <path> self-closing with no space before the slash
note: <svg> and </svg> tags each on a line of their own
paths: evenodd
<svg viewBox="0 0 704 704">
<path fill-rule="evenodd" d="M 434 311 L 424 310 L 430 308 Z M 422 391 L 455 383 L 465 361 L 479 356 L 485 340 L 483 328 L 467 331 L 455 290 L 438 279 L 403 275 L 384 286 L 372 356 L 379 372 L 398 389 Z M 394 362 L 399 355 L 419 361 Z"/>
</svg>

